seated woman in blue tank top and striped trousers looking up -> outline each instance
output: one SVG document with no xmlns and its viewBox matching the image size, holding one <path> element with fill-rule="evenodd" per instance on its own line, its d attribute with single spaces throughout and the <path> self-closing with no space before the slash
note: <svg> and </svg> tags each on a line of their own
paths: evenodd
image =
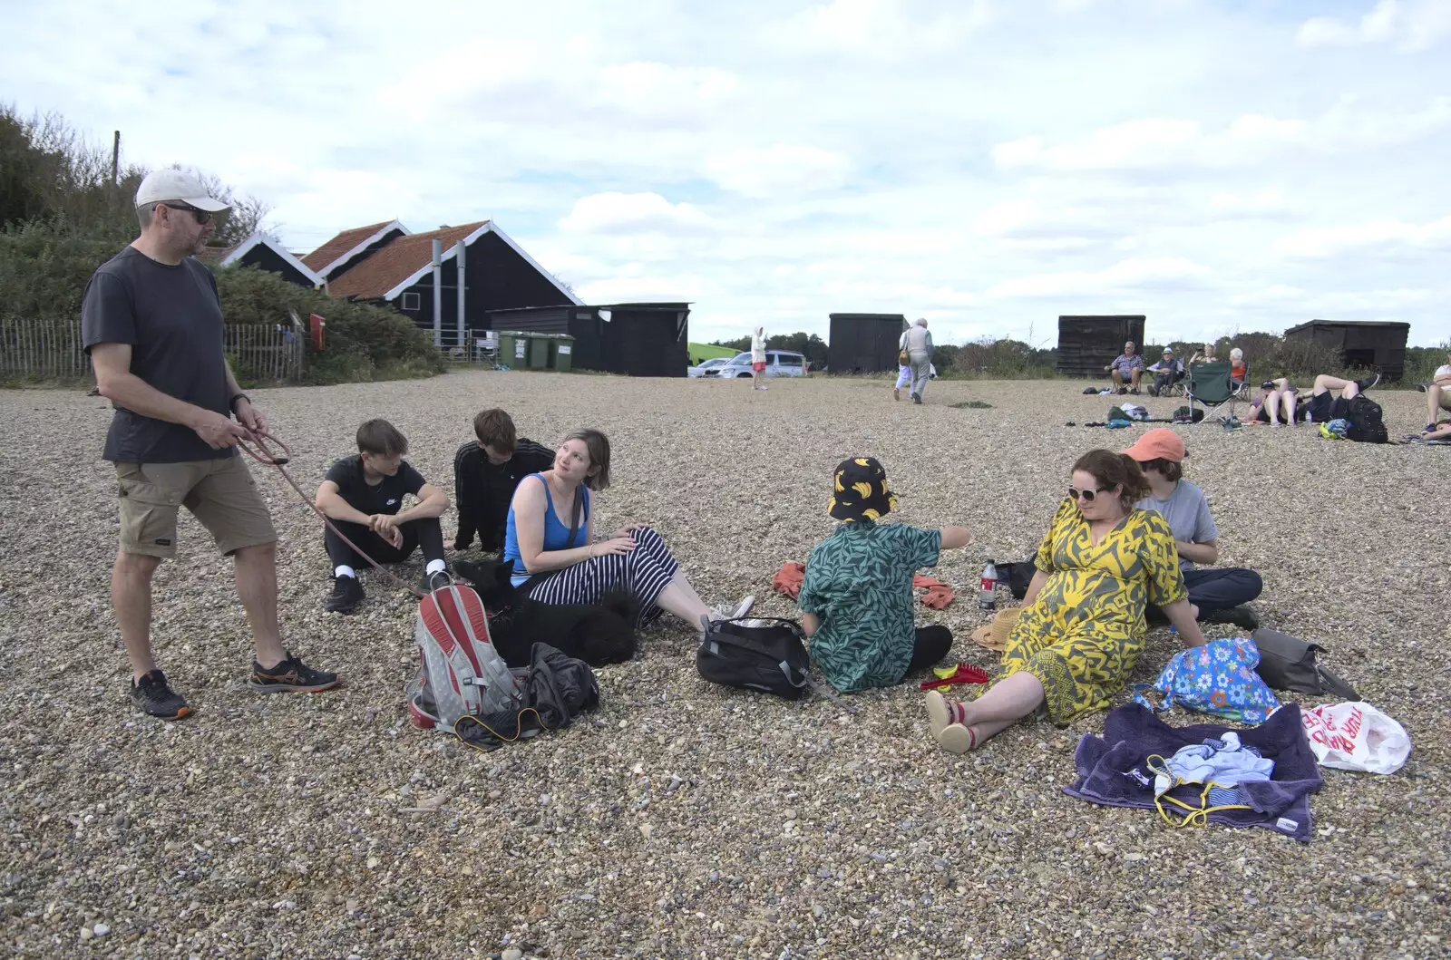
<svg viewBox="0 0 1451 960">
<path fill-rule="evenodd" d="M 566 436 L 554 452 L 554 465 L 519 483 L 503 535 L 503 560 L 514 564 L 515 586 L 541 603 L 598 603 L 608 590 L 630 590 L 640 602 L 641 626 L 660 611 L 696 628 L 702 616 L 724 619 L 750 612 L 750 596 L 708 608 L 670 548 L 643 524 L 596 541 L 591 493 L 608 486 L 609 439 L 593 429 Z"/>
</svg>

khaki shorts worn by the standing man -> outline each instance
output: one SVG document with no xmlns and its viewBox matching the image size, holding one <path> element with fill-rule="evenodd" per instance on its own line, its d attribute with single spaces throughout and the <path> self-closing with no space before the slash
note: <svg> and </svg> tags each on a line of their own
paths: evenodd
<svg viewBox="0 0 1451 960">
<path fill-rule="evenodd" d="M 277 539 L 267 505 L 241 457 L 176 464 L 116 464 L 120 548 L 174 557 L 177 509 L 186 508 L 216 539 L 222 555 Z"/>
</svg>

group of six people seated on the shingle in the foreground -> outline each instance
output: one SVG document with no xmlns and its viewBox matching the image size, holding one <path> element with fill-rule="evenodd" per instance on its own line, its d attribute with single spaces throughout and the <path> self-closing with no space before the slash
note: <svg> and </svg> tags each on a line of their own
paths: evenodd
<svg viewBox="0 0 1451 960">
<path fill-rule="evenodd" d="M 486 551 L 512 564 L 514 583 L 543 603 L 596 603 L 628 590 L 644 626 L 672 613 L 696 629 L 744 618 L 753 605 L 707 606 L 660 535 L 628 524 L 595 534 L 593 496 L 609 486 L 609 441 L 575 431 L 550 452 L 518 439 L 503 410 L 474 418 L 476 439 L 454 457 L 459 532 L 444 541 L 448 497 L 402 460 L 403 435 L 386 421 L 358 428 L 355 455 L 338 460 L 316 505 L 357 548 L 398 563 L 422 548 L 425 589 L 451 583 L 444 550 Z M 1109 703 L 1145 647 L 1151 622 L 1168 622 L 1187 645 L 1201 622 L 1257 626 L 1244 606 L 1259 596 L 1254 570 L 1216 567 L 1219 529 L 1203 490 L 1184 480 L 1183 439 L 1152 429 L 1122 452 L 1094 450 L 1068 473 L 1066 495 L 1033 558 L 1024 608 L 1003 654 L 1001 676 L 968 703 L 929 695 L 933 737 L 966 751 L 1033 712 L 1066 722 Z M 403 496 L 416 505 L 402 509 Z M 917 626 L 913 576 L 943 550 L 966 547 L 962 526 L 884 524 L 897 506 L 887 471 L 852 457 L 833 471 L 827 513 L 836 528 L 813 548 L 797 599 L 811 658 L 843 693 L 892 686 L 945 658 L 952 631 Z M 328 609 L 363 599 L 366 560 L 332 529 Z M 1197 564 L 1204 564 L 1199 567 Z"/>
</svg>

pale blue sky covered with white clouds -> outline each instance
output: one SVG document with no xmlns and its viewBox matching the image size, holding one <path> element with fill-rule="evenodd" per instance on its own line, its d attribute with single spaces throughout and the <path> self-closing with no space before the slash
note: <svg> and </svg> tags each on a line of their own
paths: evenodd
<svg viewBox="0 0 1451 960">
<path fill-rule="evenodd" d="M 692 339 L 1451 336 L 1451 0 L 0 0 L 0 100 L 271 204 L 493 219 Z"/>
</svg>

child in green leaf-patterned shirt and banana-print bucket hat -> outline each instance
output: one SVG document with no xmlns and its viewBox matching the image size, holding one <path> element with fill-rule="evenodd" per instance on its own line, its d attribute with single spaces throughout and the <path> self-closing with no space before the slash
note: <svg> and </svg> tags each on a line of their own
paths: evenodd
<svg viewBox="0 0 1451 960">
<path fill-rule="evenodd" d="M 811 658 L 842 693 L 895 686 L 952 648 L 946 626 L 914 625 L 911 580 L 971 537 L 963 526 L 878 524 L 895 506 L 874 457 L 837 464 L 827 512 L 840 524 L 807 558 L 797 606 Z"/>
</svg>

